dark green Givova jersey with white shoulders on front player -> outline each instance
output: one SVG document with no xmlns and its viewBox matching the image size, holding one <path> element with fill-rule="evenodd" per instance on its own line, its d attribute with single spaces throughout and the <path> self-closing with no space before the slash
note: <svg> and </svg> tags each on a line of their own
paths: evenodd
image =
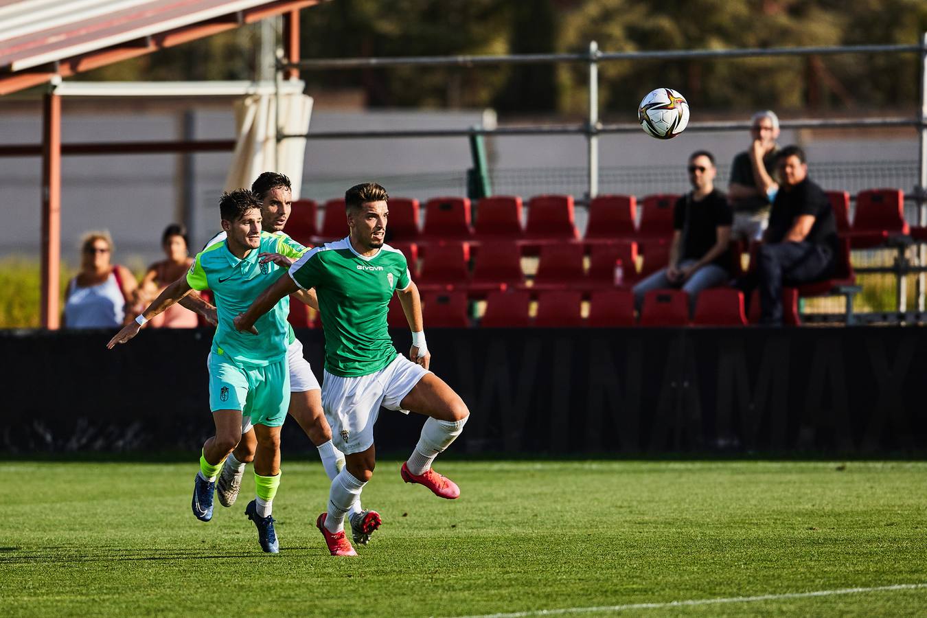
<svg viewBox="0 0 927 618">
<path fill-rule="evenodd" d="M 396 358 L 387 311 L 396 290 L 412 284 L 405 256 L 384 245 L 373 257 L 354 250 L 348 238 L 311 249 L 290 267 L 304 290 L 315 288 L 325 333 L 325 371 L 369 375 Z"/>
</svg>

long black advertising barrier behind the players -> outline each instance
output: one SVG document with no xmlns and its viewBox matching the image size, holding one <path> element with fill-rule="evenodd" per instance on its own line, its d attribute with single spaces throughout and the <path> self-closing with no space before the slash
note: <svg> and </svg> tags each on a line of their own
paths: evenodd
<svg viewBox="0 0 927 618">
<path fill-rule="evenodd" d="M 0 450 L 197 450 L 211 435 L 208 330 L 0 332 Z M 323 336 L 298 333 L 321 377 Z M 917 328 L 431 329 L 432 369 L 470 407 L 464 453 L 921 451 Z M 408 350 L 408 332 L 394 341 Z M 423 419 L 382 410 L 377 448 Z M 296 423 L 284 448 L 306 449 Z"/>
</svg>

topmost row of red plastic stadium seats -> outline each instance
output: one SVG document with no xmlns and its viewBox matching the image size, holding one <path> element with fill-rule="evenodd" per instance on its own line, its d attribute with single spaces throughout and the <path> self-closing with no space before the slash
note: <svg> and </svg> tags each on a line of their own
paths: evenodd
<svg viewBox="0 0 927 618">
<path fill-rule="evenodd" d="M 850 195 L 827 192 L 838 232 L 853 248 L 880 246 L 895 235 L 911 233 L 904 217 L 904 194 L 898 189 L 870 189 L 857 194 L 856 215 L 849 221 Z M 679 195 L 648 195 L 641 200 L 640 225 L 635 225 L 637 198 L 633 195 L 600 195 L 590 202 L 589 225 L 583 238 L 588 244 L 616 239 L 666 240 L 673 233 L 673 206 Z M 324 204 L 321 229 L 316 229 L 318 205 L 312 200 L 294 202 L 286 232 L 304 244 L 343 238 L 348 233 L 344 200 Z M 425 202 L 425 225 L 419 227 L 419 202 L 394 197 L 389 200 L 389 234 L 398 242 L 464 240 L 519 241 L 529 252 L 545 243 L 577 241 L 571 195 L 538 195 L 527 202 L 527 223 L 522 227 L 522 199 L 492 196 L 476 204 L 476 218 L 466 197 L 435 197 Z M 927 240 L 927 229 L 916 229 Z M 391 242 L 392 242 L 391 241 Z"/>
</svg>

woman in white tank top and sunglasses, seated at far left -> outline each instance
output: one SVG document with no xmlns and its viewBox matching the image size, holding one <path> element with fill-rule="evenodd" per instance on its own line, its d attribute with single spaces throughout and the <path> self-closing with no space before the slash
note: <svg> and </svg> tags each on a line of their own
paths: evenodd
<svg viewBox="0 0 927 618">
<path fill-rule="evenodd" d="M 68 284 L 64 306 L 66 328 L 118 328 L 132 320 L 126 308 L 138 284 L 129 269 L 110 262 L 113 242 L 108 232 L 90 232 L 81 241 L 81 271 Z"/>
</svg>

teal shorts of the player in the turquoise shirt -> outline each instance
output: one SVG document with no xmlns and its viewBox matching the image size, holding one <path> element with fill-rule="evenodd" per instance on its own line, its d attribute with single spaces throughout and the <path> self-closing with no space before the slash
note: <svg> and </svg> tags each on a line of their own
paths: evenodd
<svg viewBox="0 0 927 618">
<path fill-rule="evenodd" d="M 241 410 L 251 423 L 279 427 L 289 408 L 286 357 L 269 365 L 238 364 L 210 353 L 210 410 Z"/>
</svg>

